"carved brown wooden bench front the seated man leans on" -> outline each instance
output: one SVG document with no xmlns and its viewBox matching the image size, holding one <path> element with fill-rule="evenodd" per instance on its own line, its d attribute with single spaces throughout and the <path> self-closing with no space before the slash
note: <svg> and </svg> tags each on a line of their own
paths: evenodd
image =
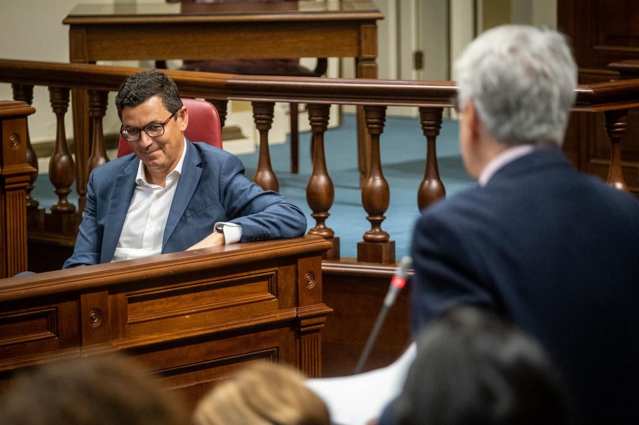
<svg viewBox="0 0 639 425">
<path fill-rule="evenodd" d="M 321 281 L 328 248 L 306 236 L 0 280 L 0 380 L 114 350 L 146 363 L 159 385 L 191 403 L 257 359 L 319 377 L 331 311 Z"/>
</svg>

